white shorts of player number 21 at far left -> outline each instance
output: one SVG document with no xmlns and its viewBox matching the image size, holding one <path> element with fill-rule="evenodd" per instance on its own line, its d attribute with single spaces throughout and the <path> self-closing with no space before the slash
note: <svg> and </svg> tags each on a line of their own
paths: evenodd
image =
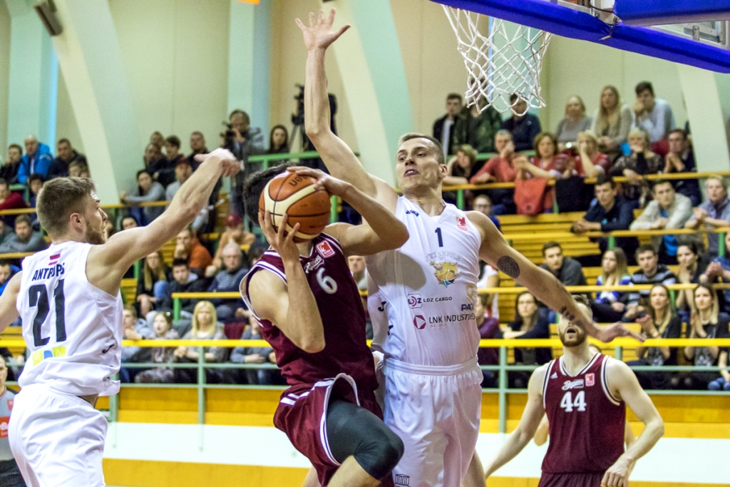
<svg viewBox="0 0 730 487">
<path fill-rule="evenodd" d="M 8 439 L 28 487 L 104 486 L 106 435 L 106 418 L 80 397 L 40 385 L 15 396 Z"/>
</svg>

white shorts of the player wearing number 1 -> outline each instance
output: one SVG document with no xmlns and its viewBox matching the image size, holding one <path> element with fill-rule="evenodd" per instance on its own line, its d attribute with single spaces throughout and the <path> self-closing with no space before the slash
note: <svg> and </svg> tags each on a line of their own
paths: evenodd
<svg viewBox="0 0 730 487">
<path fill-rule="evenodd" d="M 396 487 L 459 487 L 472 461 L 482 409 L 477 359 L 454 367 L 385 361 L 385 424 L 403 440 Z"/>
</svg>

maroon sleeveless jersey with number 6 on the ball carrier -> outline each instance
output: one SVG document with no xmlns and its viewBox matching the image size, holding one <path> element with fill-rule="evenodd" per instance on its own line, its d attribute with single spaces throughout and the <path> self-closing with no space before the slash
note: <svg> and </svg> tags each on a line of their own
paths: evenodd
<svg viewBox="0 0 730 487">
<path fill-rule="evenodd" d="M 299 257 L 315 296 L 324 327 L 325 347 L 318 353 L 307 353 L 294 345 L 270 321 L 255 317 L 261 336 L 274 348 L 277 365 L 290 386 L 312 385 L 320 380 L 345 373 L 353 377 L 358 390 L 377 389 L 372 352 L 365 337 L 365 310 L 358 286 L 347 266 L 345 255 L 336 239 L 320 234 L 312 239 L 308 257 Z M 261 260 L 244 277 L 243 298 L 250 306 L 250 277 L 266 269 L 286 282 L 284 264 L 274 250 L 267 250 Z M 292 302 L 289 306 L 296 307 Z M 295 323 L 296 324 L 296 323 Z"/>
</svg>

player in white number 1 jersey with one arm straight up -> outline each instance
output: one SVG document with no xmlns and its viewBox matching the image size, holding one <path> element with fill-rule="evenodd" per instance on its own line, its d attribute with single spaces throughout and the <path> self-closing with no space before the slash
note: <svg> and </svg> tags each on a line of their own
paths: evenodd
<svg viewBox="0 0 730 487">
<path fill-rule="evenodd" d="M 604 341 L 626 336 L 621 323 L 599 329 L 578 310 L 555 276 L 507 245 L 480 212 L 462 212 L 442 199 L 447 169 L 440 143 L 423 134 L 401 138 L 396 175 L 403 196 L 369 175 L 330 129 L 325 53 L 348 26 L 331 31 L 325 19 L 299 19 L 307 47 L 304 126 L 327 169 L 377 199 L 406 223 L 410 239 L 367 259 L 383 301 L 387 326 L 373 347 L 385 355 L 385 423 L 405 453 L 393 469 L 397 486 L 458 486 L 477 441 L 482 375 L 474 304 L 479 259 L 510 275 L 577 326 Z M 353 88 L 355 89 L 355 88 Z"/>
</svg>

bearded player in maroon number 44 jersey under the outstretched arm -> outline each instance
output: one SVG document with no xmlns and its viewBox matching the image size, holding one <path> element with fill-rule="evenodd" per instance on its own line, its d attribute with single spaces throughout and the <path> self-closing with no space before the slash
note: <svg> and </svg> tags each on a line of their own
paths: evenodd
<svg viewBox="0 0 730 487">
<path fill-rule="evenodd" d="M 585 299 L 576 301 L 592 318 Z M 558 334 L 563 356 L 533 372 L 520 423 L 487 465 L 486 478 L 525 448 L 547 413 L 550 445 L 539 487 L 626 487 L 634 462 L 664 434 L 664 421 L 628 365 L 591 351 L 585 332 L 564 318 Z M 624 451 L 627 404 L 645 428 Z"/>
</svg>

